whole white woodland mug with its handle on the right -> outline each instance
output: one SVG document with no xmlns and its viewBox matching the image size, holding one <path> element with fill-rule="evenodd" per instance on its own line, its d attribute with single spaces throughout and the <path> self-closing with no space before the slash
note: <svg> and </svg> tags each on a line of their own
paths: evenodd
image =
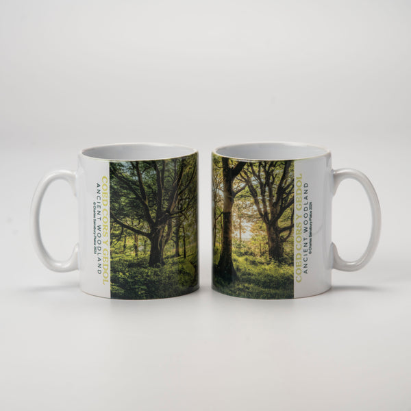
<svg viewBox="0 0 411 411">
<path fill-rule="evenodd" d="M 288 142 L 220 147 L 212 154 L 214 290 L 234 297 L 286 299 L 321 294 L 331 271 L 361 269 L 379 240 L 381 211 L 369 179 L 332 170 L 331 153 Z M 372 229 L 362 256 L 340 258 L 331 238 L 332 198 L 355 179 L 369 198 Z"/>
</svg>

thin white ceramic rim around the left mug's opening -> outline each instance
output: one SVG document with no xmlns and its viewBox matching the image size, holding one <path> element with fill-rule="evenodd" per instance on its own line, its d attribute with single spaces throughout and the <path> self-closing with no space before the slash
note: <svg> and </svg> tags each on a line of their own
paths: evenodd
<svg viewBox="0 0 411 411">
<path fill-rule="evenodd" d="M 143 156 L 144 158 L 126 158 L 126 156 L 120 155 L 99 155 L 99 151 L 110 151 L 115 149 L 125 149 L 128 147 L 129 149 L 136 149 L 138 147 L 145 148 L 145 149 L 169 149 L 169 150 L 176 150 L 177 153 L 170 154 L 170 155 L 146 155 Z M 181 153 L 178 153 L 178 151 Z M 93 155 L 92 152 L 96 151 Z M 179 144 L 169 144 L 166 142 L 115 142 L 112 144 L 106 145 L 97 145 L 92 147 L 86 147 L 80 151 L 82 157 L 90 158 L 92 160 L 100 160 L 100 161 L 111 161 L 111 162 L 123 162 L 123 161 L 157 161 L 157 160 L 169 160 L 171 158 L 183 158 L 187 157 L 188 155 L 197 154 L 198 150 L 186 145 L 179 145 Z M 120 158 L 121 157 L 121 158 Z"/>
</svg>

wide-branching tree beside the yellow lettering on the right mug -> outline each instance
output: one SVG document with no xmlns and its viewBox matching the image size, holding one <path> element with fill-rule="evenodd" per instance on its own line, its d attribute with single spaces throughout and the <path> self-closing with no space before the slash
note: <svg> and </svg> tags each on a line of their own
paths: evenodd
<svg viewBox="0 0 411 411">
<path fill-rule="evenodd" d="M 258 214 L 265 225 L 269 258 L 282 260 L 284 242 L 294 227 L 294 171 L 292 161 L 260 161 L 242 169 L 240 181 L 247 184 Z M 292 208 L 290 213 L 287 210 Z M 286 225 L 280 225 L 288 214 Z"/>
</svg>

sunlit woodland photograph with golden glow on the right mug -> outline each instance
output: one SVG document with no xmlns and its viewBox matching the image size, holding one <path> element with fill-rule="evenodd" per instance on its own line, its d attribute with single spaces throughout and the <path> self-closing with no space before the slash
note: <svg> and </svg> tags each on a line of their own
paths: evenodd
<svg viewBox="0 0 411 411">
<path fill-rule="evenodd" d="M 213 288 L 294 296 L 294 162 L 212 159 Z"/>
</svg>

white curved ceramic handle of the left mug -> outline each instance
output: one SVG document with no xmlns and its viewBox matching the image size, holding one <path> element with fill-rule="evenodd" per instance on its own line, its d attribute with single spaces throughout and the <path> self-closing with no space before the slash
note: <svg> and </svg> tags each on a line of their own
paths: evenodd
<svg viewBox="0 0 411 411">
<path fill-rule="evenodd" d="M 73 189 L 75 195 L 75 171 L 68 170 L 58 170 L 52 171 L 51 173 L 45 175 L 38 184 L 36 191 L 34 192 L 32 200 L 32 208 L 30 210 L 30 226 L 32 231 L 32 240 L 34 244 L 34 249 L 38 255 L 38 258 L 42 261 L 48 269 L 53 271 L 59 271 L 64 273 L 66 271 L 73 271 L 79 268 L 78 263 L 78 244 L 74 246 L 73 253 L 69 260 L 58 261 L 50 256 L 45 248 L 45 245 L 42 242 L 41 233 L 40 233 L 40 206 L 42 199 L 45 195 L 45 192 L 51 182 L 57 179 L 63 179 L 68 182 Z"/>
</svg>

